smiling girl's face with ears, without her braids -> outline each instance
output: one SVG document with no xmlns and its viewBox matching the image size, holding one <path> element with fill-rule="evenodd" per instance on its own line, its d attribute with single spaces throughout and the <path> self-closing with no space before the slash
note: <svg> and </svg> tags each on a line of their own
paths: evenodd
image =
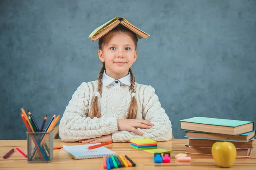
<svg viewBox="0 0 256 170">
<path fill-rule="evenodd" d="M 98 55 L 99 59 L 105 62 L 106 73 L 114 79 L 125 77 L 137 59 L 134 40 L 125 32 L 107 36 Z"/>
</svg>

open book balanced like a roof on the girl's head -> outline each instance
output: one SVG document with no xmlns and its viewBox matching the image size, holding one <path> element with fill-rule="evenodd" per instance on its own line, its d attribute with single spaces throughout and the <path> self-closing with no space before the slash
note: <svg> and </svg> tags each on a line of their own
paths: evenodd
<svg viewBox="0 0 256 170">
<path fill-rule="evenodd" d="M 138 38 L 147 38 L 149 35 L 136 26 L 129 23 L 127 20 L 125 20 L 124 17 L 115 17 L 112 20 L 109 20 L 107 23 L 103 24 L 102 26 L 99 26 L 96 28 L 90 35 L 89 38 L 92 41 L 96 41 L 99 38 L 103 37 L 105 34 L 107 34 L 109 31 L 111 31 L 113 28 L 118 26 L 118 24 L 122 24 L 123 26 L 127 27 L 131 31 L 133 31 L 135 34 L 137 34 Z"/>
</svg>

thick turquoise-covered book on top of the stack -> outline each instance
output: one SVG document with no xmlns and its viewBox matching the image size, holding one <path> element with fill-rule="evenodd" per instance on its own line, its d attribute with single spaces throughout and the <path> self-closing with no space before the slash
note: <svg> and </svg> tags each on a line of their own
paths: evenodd
<svg viewBox="0 0 256 170">
<path fill-rule="evenodd" d="M 254 130 L 254 123 L 250 121 L 216 119 L 209 117 L 193 117 L 180 120 L 181 129 L 207 133 L 240 135 Z"/>
</svg>

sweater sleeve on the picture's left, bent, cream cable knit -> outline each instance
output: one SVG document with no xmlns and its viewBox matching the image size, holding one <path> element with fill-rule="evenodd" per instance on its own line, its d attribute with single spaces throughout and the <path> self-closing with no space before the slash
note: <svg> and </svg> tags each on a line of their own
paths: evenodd
<svg viewBox="0 0 256 170">
<path fill-rule="evenodd" d="M 83 82 L 73 94 L 59 125 L 59 136 L 63 142 L 76 142 L 108 135 L 117 131 L 116 118 L 88 117 L 90 89 Z"/>
</svg>

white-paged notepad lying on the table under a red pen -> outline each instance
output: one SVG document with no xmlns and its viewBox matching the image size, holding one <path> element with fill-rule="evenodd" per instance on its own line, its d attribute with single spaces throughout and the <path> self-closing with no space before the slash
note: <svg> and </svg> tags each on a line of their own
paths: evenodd
<svg viewBox="0 0 256 170">
<path fill-rule="evenodd" d="M 88 149 L 89 146 L 96 144 L 82 144 L 67 146 L 63 145 L 63 150 L 69 154 L 73 159 L 91 159 L 91 158 L 102 158 L 103 156 L 115 156 L 116 153 L 108 148 L 102 146 L 95 149 Z"/>
</svg>

